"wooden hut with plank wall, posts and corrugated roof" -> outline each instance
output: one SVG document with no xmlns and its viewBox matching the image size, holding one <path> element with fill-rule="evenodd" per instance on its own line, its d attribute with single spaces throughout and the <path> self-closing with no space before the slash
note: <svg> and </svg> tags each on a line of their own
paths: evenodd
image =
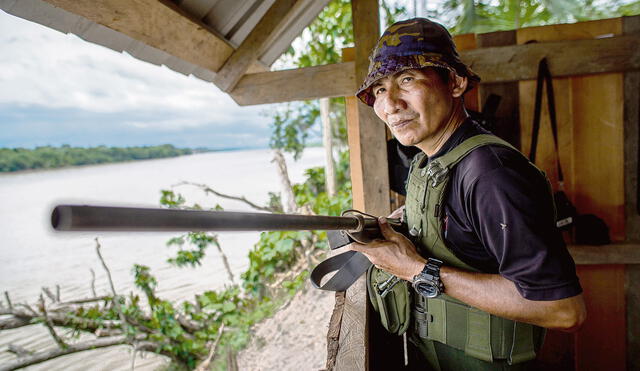
<svg viewBox="0 0 640 371">
<path fill-rule="evenodd" d="M 352 0 L 355 48 L 343 63 L 269 71 L 328 0 L 0 0 L 7 13 L 183 74 L 213 82 L 240 105 L 347 97 L 354 208 L 391 210 L 385 126 L 353 93 L 380 33 L 377 0 Z M 607 223 L 614 241 L 570 246 L 588 320 L 576 334 L 551 331 L 550 369 L 640 369 L 640 18 L 624 17 L 456 37 L 483 78 L 466 103 L 502 96 L 496 133 L 528 150 L 538 61 L 555 77 L 565 190 L 580 213 Z M 536 43 L 527 43 L 536 40 Z M 277 89 L 274 89 L 277 87 Z M 543 114 L 543 117 L 546 115 Z M 549 126 L 537 164 L 555 174 Z M 337 295 L 330 328 L 335 369 L 401 367 L 376 327 L 361 279 Z M 332 342 L 331 339 L 334 341 Z M 384 350 L 384 351 L 383 351 Z"/>
</svg>

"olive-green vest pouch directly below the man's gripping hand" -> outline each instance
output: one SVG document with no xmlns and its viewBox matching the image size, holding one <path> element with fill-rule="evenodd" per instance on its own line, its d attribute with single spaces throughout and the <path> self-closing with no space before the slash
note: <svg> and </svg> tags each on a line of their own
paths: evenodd
<svg viewBox="0 0 640 371">
<path fill-rule="evenodd" d="M 372 265 L 367 271 L 367 291 L 382 326 L 392 334 L 404 334 L 411 309 L 407 282 Z"/>
</svg>

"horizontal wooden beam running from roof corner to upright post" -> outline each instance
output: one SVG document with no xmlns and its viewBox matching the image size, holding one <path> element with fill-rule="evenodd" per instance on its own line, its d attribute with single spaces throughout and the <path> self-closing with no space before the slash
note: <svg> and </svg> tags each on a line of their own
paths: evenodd
<svg viewBox="0 0 640 371">
<path fill-rule="evenodd" d="M 244 75 L 229 93 L 241 106 L 343 97 L 356 91 L 354 62 Z"/>
</svg>

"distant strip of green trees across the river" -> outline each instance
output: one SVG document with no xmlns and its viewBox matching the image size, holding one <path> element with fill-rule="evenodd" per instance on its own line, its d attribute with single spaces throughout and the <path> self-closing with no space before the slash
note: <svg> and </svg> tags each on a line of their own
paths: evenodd
<svg viewBox="0 0 640 371">
<path fill-rule="evenodd" d="M 53 169 L 63 166 L 104 164 L 151 158 L 188 155 L 199 150 L 176 148 L 170 144 L 151 147 L 62 147 L 0 148 L 0 172 Z"/>
</svg>

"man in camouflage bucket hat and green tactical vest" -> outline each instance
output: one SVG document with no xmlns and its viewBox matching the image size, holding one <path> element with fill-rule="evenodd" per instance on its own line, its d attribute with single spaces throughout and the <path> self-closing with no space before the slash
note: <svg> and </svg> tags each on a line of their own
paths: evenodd
<svg viewBox="0 0 640 371">
<path fill-rule="evenodd" d="M 351 248 L 413 284 L 411 338 L 432 369 L 530 366 L 541 328 L 574 331 L 586 317 L 546 178 L 465 111 L 479 81 L 448 31 L 416 18 L 382 35 L 357 93 L 424 153 L 407 184 L 413 239 L 381 218 L 385 240 Z"/>
</svg>

